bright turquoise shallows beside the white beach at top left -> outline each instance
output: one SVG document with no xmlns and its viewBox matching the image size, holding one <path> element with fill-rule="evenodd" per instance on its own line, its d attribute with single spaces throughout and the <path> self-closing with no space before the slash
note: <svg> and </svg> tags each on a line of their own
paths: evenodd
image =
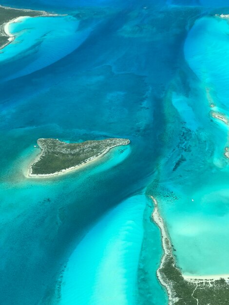
<svg viewBox="0 0 229 305">
<path fill-rule="evenodd" d="M 73 52 L 90 32 L 78 30 L 78 26 L 79 21 L 70 16 L 25 17 L 11 23 L 9 31 L 15 40 L 0 54 L 3 66 L 10 67 L 2 77 L 11 79 L 33 73 Z"/>
</svg>

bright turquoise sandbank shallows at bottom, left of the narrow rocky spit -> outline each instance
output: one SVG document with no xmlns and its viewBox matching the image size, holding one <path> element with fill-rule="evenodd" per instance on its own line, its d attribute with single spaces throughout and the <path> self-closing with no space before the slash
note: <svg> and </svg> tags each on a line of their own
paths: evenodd
<svg viewBox="0 0 229 305">
<path fill-rule="evenodd" d="M 63 271 L 60 304 L 135 303 L 145 202 L 127 199 L 83 238 Z"/>
</svg>

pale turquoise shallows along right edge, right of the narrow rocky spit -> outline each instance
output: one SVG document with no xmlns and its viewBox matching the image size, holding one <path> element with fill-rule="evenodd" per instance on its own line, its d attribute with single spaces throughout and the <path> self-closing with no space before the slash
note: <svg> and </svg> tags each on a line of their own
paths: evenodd
<svg viewBox="0 0 229 305">
<path fill-rule="evenodd" d="M 182 133 L 170 155 L 172 172 L 169 164 L 163 172 L 164 196 L 173 198 L 162 196 L 162 213 L 178 266 L 197 276 L 229 273 L 228 126 L 210 115 L 228 115 L 228 33 L 227 19 L 208 16 L 195 22 L 184 44 L 195 75 L 189 73 L 188 91 L 177 87 L 170 96 Z"/>
</svg>

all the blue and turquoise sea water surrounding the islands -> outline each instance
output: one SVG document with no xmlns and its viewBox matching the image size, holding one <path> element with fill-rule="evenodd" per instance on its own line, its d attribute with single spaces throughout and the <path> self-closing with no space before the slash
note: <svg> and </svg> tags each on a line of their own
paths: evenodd
<svg viewBox="0 0 229 305">
<path fill-rule="evenodd" d="M 183 272 L 229 273 L 228 128 L 209 106 L 228 114 L 229 25 L 211 2 L 1 2 L 68 14 L 11 24 L 0 53 L 1 304 L 168 304 L 146 188 Z M 28 179 L 39 137 L 131 145 Z"/>
</svg>

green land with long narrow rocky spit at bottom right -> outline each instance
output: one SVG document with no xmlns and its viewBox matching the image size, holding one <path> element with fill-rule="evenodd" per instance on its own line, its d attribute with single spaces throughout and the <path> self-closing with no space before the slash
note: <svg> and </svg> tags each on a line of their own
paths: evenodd
<svg viewBox="0 0 229 305">
<path fill-rule="evenodd" d="M 162 236 L 164 254 L 157 277 L 169 295 L 169 305 L 228 305 L 229 304 L 229 277 L 196 276 L 185 277 L 176 266 L 171 244 L 164 221 L 160 216 L 158 204 L 153 196 L 153 221 L 159 227 Z"/>
</svg>

